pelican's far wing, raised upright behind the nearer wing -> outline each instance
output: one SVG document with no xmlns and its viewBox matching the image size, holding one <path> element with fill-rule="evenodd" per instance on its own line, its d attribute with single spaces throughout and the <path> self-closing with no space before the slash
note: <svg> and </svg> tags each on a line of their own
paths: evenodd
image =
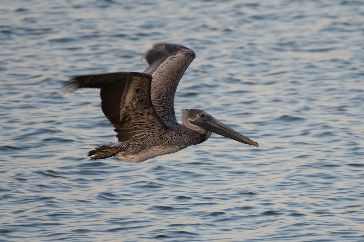
<svg viewBox="0 0 364 242">
<path fill-rule="evenodd" d="M 182 45 L 160 43 L 149 50 L 145 59 L 149 67 L 144 71 L 153 76 L 151 100 L 162 121 L 177 122 L 174 95 L 179 80 L 195 58 L 195 53 Z"/>
</svg>

